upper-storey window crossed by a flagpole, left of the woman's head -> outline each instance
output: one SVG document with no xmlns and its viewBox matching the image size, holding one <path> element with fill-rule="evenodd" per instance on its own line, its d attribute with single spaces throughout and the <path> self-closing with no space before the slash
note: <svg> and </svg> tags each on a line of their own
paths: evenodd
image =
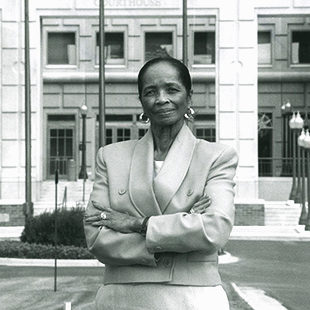
<svg viewBox="0 0 310 310">
<path fill-rule="evenodd" d="M 123 65 L 124 58 L 124 33 L 106 32 L 104 34 L 104 55 L 108 65 Z M 99 32 L 96 34 L 96 64 L 99 64 Z"/>
</svg>

